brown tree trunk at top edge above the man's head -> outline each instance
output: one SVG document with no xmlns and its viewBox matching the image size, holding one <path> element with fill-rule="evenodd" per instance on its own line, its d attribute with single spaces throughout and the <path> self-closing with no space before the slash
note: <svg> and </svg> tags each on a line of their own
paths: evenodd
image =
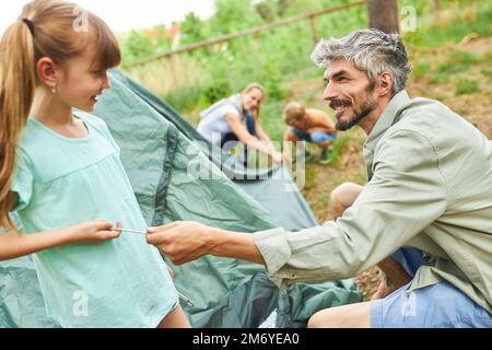
<svg viewBox="0 0 492 350">
<path fill-rule="evenodd" d="M 370 27 L 385 33 L 400 33 L 397 0 L 367 0 Z"/>
</svg>

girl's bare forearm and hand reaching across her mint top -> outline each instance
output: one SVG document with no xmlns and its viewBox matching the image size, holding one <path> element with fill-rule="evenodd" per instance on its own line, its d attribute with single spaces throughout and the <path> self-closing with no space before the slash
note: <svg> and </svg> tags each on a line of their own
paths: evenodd
<svg viewBox="0 0 492 350">
<path fill-rule="evenodd" d="M 93 221 L 51 232 L 0 234 L 0 261 L 71 243 L 94 244 L 117 238 L 120 232 L 109 231 L 112 228 L 112 222 Z"/>
</svg>

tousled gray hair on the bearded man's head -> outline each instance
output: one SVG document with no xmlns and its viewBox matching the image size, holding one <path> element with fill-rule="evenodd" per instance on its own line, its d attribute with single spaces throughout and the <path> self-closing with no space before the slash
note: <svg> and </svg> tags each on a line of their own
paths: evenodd
<svg viewBox="0 0 492 350">
<path fill-rule="evenodd" d="M 375 86 L 380 73 L 389 72 L 394 80 L 393 95 L 405 90 L 412 71 L 400 36 L 378 30 L 361 30 L 341 39 L 331 37 L 320 40 L 311 56 L 316 66 L 325 68 L 331 60 L 341 58 L 366 71 L 372 86 Z"/>
</svg>

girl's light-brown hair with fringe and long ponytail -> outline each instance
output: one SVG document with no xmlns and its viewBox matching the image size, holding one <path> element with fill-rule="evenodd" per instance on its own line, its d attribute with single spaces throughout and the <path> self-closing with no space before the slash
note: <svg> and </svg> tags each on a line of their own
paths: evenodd
<svg viewBox="0 0 492 350">
<path fill-rule="evenodd" d="M 116 37 L 96 15 L 60 0 L 34 0 L 0 40 L 0 226 L 14 229 L 9 218 L 9 192 L 15 148 L 24 128 L 34 91 L 39 85 L 36 62 L 49 57 L 63 63 L 95 45 L 93 66 L 108 69 L 121 61 Z"/>
</svg>

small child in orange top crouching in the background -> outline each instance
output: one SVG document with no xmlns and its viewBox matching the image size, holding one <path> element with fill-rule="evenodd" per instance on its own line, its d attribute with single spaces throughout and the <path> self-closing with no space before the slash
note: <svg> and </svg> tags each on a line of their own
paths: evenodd
<svg viewBox="0 0 492 350">
<path fill-rule="evenodd" d="M 329 163 L 330 144 L 337 139 L 337 129 L 325 112 L 313 108 L 306 109 L 300 103 L 291 102 L 283 110 L 283 120 L 290 126 L 283 138 L 284 158 L 286 160 L 292 160 L 292 142 L 307 141 L 321 148 L 319 163 Z M 308 156 L 307 151 L 306 156 Z"/>
</svg>

